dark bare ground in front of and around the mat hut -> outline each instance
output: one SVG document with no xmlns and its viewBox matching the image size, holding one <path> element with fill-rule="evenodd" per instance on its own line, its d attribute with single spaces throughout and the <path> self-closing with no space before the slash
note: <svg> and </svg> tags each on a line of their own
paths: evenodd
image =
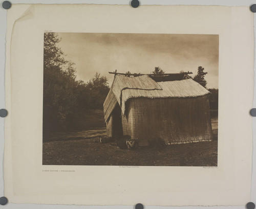
<svg viewBox="0 0 256 209">
<path fill-rule="evenodd" d="M 121 150 L 116 143 L 100 144 L 98 135 L 105 128 L 55 133 L 43 143 L 43 165 L 101 166 L 217 166 L 218 118 L 212 118 L 215 139 L 212 142 L 139 147 Z"/>
</svg>

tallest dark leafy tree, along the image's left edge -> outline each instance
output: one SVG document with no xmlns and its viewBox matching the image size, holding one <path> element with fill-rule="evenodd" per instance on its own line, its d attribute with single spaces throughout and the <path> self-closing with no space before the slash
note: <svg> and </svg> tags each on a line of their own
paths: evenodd
<svg viewBox="0 0 256 209">
<path fill-rule="evenodd" d="M 44 132 L 66 127 L 77 106 L 74 63 L 65 59 L 60 40 L 56 33 L 44 35 Z"/>
</svg>

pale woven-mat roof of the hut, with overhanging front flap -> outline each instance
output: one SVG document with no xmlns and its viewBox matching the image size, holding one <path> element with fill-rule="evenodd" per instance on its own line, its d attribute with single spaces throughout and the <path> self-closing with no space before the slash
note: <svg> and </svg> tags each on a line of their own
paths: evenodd
<svg viewBox="0 0 256 209">
<path fill-rule="evenodd" d="M 192 79 L 156 82 L 148 75 L 133 78 L 116 75 L 103 104 L 104 119 L 105 122 L 109 119 L 117 103 L 124 113 L 125 102 L 130 98 L 186 98 L 207 94 L 210 92 Z"/>
</svg>

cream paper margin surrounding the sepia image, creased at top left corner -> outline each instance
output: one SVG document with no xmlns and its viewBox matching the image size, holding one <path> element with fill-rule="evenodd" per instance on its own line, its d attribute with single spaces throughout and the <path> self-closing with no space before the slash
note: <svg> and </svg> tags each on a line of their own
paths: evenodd
<svg viewBox="0 0 256 209">
<path fill-rule="evenodd" d="M 9 202 L 244 205 L 250 201 L 248 110 L 253 99 L 254 40 L 253 13 L 247 7 L 13 5 L 7 27 L 4 178 Z M 49 31 L 219 34 L 218 168 L 42 166 L 43 43 L 44 32 Z"/>
</svg>

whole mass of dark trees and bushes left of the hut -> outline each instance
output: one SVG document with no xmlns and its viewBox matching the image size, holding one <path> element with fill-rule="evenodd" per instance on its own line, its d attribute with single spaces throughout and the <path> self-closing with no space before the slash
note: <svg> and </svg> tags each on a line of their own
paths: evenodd
<svg viewBox="0 0 256 209">
<path fill-rule="evenodd" d="M 74 128 L 79 115 L 102 109 L 109 92 L 106 77 L 96 73 L 88 82 L 76 79 L 74 63 L 58 47 L 56 33 L 44 34 L 43 132 Z"/>
</svg>

